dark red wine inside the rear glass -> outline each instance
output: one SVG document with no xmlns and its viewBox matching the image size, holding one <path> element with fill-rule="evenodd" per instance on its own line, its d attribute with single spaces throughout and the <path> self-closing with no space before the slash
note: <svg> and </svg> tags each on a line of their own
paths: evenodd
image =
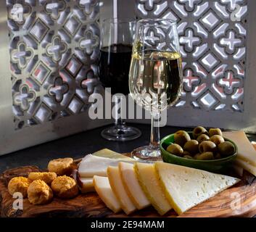
<svg viewBox="0 0 256 232">
<path fill-rule="evenodd" d="M 128 76 L 132 46 L 113 44 L 103 47 L 99 55 L 99 78 L 112 94 L 129 94 Z"/>
</svg>

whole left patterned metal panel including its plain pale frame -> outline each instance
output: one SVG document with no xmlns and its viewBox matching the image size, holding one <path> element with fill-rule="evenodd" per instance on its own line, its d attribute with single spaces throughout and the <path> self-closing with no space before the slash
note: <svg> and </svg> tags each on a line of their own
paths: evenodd
<svg viewBox="0 0 256 232">
<path fill-rule="evenodd" d="M 88 117 L 99 1 L 1 0 L 0 154 L 104 125 Z"/>
</svg>

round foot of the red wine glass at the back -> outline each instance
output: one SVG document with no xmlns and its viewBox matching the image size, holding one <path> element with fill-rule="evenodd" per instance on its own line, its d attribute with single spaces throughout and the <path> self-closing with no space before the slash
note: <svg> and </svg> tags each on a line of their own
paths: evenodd
<svg viewBox="0 0 256 232">
<path fill-rule="evenodd" d="M 141 136 L 141 130 L 131 126 L 112 126 L 102 130 L 102 137 L 109 141 L 131 141 Z"/>
</svg>

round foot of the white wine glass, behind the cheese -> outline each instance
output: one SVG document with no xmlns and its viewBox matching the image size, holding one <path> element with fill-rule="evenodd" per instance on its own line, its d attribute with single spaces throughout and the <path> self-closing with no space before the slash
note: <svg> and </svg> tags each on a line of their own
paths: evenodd
<svg viewBox="0 0 256 232">
<path fill-rule="evenodd" d="M 142 162 L 162 161 L 159 147 L 141 146 L 131 152 L 133 159 Z"/>
</svg>

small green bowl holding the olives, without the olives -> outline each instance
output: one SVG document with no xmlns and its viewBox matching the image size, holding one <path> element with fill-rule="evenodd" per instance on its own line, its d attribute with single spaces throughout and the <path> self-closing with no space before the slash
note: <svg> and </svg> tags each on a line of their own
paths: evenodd
<svg viewBox="0 0 256 232">
<path fill-rule="evenodd" d="M 193 139 L 192 132 L 188 132 L 191 139 Z M 168 162 L 175 165 L 182 165 L 186 167 L 194 167 L 201 170 L 207 170 L 212 173 L 223 173 L 231 167 L 232 162 L 237 156 L 237 146 L 234 141 L 228 138 L 224 138 L 225 141 L 230 141 L 235 146 L 235 153 L 229 157 L 223 159 L 214 160 L 196 160 L 196 159 L 186 159 L 183 157 L 178 157 L 175 154 L 167 152 L 166 149 L 170 144 L 174 143 L 174 133 L 162 138 L 160 142 L 160 150 L 162 154 L 162 159 L 164 162 Z"/>
</svg>

